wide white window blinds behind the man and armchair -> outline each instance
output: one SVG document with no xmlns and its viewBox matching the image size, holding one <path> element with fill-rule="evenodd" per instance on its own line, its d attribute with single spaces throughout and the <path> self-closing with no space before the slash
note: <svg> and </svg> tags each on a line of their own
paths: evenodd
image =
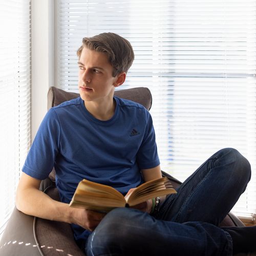
<svg viewBox="0 0 256 256">
<path fill-rule="evenodd" d="M 77 90 L 84 36 L 115 32 L 135 61 L 123 88 L 148 87 L 161 167 L 184 181 L 223 147 L 237 148 L 252 178 L 233 211 L 256 212 L 255 1 L 58 0 L 57 86 Z"/>
</svg>

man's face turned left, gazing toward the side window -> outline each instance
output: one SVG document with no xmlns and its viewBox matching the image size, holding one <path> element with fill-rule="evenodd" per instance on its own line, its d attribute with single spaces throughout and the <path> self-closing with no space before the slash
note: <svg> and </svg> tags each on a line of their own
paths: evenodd
<svg viewBox="0 0 256 256">
<path fill-rule="evenodd" d="M 84 101 L 104 101 L 112 98 L 116 77 L 105 53 L 82 49 L 78 61 L 78 88 Z"/>
</svg>

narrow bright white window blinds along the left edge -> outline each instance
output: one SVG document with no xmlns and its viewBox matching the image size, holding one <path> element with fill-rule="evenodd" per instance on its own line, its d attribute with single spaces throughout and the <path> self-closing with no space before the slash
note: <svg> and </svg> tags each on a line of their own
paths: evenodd
<svg viewBox="0 0 256 256">
<path fill-rule="evenodd" d="M 0 4 L 0 234 L 30 146 L 30 1 Z"/>
</svg>

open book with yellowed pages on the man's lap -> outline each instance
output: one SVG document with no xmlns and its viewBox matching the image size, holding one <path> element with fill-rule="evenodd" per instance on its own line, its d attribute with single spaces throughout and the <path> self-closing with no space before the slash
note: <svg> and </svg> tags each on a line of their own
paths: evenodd
<svg viewBox="0 0 256 256">
<path fill-rule="evenodd" d="M 166 177 L 147 181 L 125 197 L 111 186 L 83 179 L 78 183 L 69 206 L 108 212 L 116 207 L 129 207 L 173 193 L 176 193 L 176 190 Z"/>
</svg>

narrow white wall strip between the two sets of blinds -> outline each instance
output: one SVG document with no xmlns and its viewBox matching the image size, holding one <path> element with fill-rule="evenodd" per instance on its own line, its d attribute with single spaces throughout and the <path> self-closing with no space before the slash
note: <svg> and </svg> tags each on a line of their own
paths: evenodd
<svg viewBox="0 0 256 256">
<path fill-rule="evenodd" d="M 54 1 L 31 1 L 32 140 L 47 112 L 47 92 L 54 85 Z"/>
</svg>

